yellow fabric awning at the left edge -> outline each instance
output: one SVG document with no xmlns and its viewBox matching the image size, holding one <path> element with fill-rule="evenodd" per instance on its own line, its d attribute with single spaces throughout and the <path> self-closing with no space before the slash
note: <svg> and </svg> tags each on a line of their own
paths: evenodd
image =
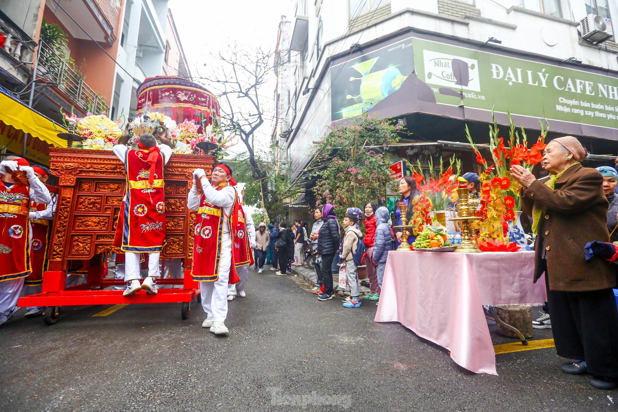
<svg viewBox="0 0 618 412">
<path fill-rule="evenodd" d="M 50 145 L 61 148 L 67 147 L 67 141 L 57 137 L 58 133 L 66 133 L 66 128 L 57 125 L 52 120 L 4 93 L 0 93 L 0 120 L 4 124 L 30 133 L 30 135 L 38 137 Z"/>
</svg>

